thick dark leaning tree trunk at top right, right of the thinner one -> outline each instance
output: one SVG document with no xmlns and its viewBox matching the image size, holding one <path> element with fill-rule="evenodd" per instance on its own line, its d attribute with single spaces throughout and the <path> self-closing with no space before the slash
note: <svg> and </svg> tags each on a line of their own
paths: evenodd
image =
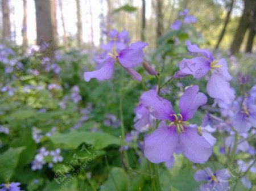
<svg viewBox="0 0 256 191">
<path fill-rule="evenodd" d="M 250 23 L 251 12 L 254 10 L 254 7 L 256 6 L 255 0 L 245 0 L 244 2 L 245 7 L 243 9 L 243 14 L 238 24 L 237 31 L 234 35 L 233 43 L 230 46 L 230 51 L 232 54 L 239 51 L 243 41 L 243 37 L 245 36 L 246 29 L 248 28 Z"/>
</svg>

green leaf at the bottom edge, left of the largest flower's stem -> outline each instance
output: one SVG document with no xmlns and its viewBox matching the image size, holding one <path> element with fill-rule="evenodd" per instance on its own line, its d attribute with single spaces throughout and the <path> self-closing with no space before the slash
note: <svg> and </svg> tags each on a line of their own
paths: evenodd
<svg viewBox="0 0 256 191">
<path fill-rule="evenodd" d="M 127 191 L 128 177 L 124 169 L 114 167 L 109 172 L 108 180 L 100 191 Z"/>
</svg>

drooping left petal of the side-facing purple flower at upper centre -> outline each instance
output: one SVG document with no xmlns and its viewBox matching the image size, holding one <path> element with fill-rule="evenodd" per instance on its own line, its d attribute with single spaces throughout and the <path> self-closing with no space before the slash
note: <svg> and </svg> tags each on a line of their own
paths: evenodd
<svg viewBox="0 0 256 191">
<path fill-rule="evenodd" d="M 86 82 L 89 82 L 90 79 L 96 78 L 97 80 L 106 80 L 110 79 L 114 72 L 114 60 L 110 58 L 104 66 L 101 67 L 99 70 L 95 71 L 86 71 L 84 73 L 84 80 Z"/>
</svg>

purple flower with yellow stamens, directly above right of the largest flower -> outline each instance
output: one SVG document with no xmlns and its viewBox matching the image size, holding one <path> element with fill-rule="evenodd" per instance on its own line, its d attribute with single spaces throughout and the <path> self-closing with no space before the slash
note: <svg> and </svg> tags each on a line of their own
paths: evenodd
<svg viewBox="0 0 256 191">
<path fill-rule="evenodd" d="M 185 74 L 191 74 L 194 78 L 204 77 L 210 70 L 212 75 L 207 83 L 207 92 L 214 99 L 223 100 L 226 104 L 234 100 L 234 90 L 228 83 L 232 79 L 228 73 L 228 64 L 224 58 L 214 60 L 212 53 L 207 49 L 201 50 L 197 45 L 191 44 L 190 41 L 185 43 L 189 52 L 200 53 L 203 57 L 192 59 L 183 58 L 180 62 L 180 71 Z"/>
</svg>

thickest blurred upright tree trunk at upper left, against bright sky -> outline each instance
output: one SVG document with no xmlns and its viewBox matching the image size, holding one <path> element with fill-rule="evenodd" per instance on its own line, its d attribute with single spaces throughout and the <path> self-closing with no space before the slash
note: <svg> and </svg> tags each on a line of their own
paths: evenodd
<svg viewBox="0 0 256 191">
<path fill-rule="evenodd" d="M 57 44 L 55 12 L 53 12 L 55 0 L 35 0 L 36 7 L 36 43 L 42 40 L 51 40 L 51 45 Z"/>
</svg>

